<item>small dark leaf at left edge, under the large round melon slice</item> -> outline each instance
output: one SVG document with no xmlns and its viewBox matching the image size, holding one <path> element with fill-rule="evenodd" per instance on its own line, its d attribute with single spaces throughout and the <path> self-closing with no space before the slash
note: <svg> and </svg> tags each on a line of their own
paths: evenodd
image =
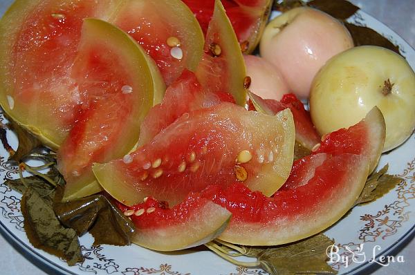
<svg viewBox="0 0 415 275">
<path fill-rule="evenodd" d="M 15 153 L 10 153 L 9 160 L 20 162 L 24 156 L 33 151 L 33 149 L 42 146 L 42 142 L 40 142 L 37 138 L 35 138 L 34 135 L 30 134 L 13 120 L 10 120 L 8 123 L 8 128 L 16 133 L 17 140 L 19 140 L 17 151 L 15 151 Z"/>
</svg>

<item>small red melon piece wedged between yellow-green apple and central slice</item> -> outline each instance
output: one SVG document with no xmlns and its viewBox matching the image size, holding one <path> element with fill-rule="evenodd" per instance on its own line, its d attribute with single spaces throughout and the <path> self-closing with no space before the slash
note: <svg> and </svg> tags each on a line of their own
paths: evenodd
<svg viewBox="0 0 415 275">
<path fill-rule="evenodd" d="M 311 150 L 320 142 L 320 135 L 311 122 L 310 113 L 293 93 L 284 95 L 280 102 L 274 99 L 262 99 L 251 92 L 249 96 L 257 111 L 261 113 L 275 115 L 285 108 L 290 108 L 295 123 L 295 140 L 306 149 Z"/>
</svg>

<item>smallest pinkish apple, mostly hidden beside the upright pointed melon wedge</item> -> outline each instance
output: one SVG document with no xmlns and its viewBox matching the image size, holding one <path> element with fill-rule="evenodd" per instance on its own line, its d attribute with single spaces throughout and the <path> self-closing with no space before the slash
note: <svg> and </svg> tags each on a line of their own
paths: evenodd
<svg viewBox="0 0 415 275">
<path fill-rule="evenodd" d="M 281 73 L 262 57 L 244 55 L 246 73 L 251 78 L 250 91 L 264 99 L 281 100 L 289 92 Z"/>
</svg>

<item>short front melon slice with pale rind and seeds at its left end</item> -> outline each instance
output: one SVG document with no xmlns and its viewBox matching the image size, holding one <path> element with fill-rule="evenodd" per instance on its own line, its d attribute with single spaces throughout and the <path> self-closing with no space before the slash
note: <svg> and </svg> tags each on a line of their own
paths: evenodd
<svg viewBox="0 0 415 275">
<path fill-rule="evenodd" d="M 168 209 L 147 198 L 133 207 L 120 206 L 136 225 L 132 242 L 158 251 L 175 251 L 208 243 L 229 223 L 230 211 L 200 196 L 190 196 Z"/>
</svg>

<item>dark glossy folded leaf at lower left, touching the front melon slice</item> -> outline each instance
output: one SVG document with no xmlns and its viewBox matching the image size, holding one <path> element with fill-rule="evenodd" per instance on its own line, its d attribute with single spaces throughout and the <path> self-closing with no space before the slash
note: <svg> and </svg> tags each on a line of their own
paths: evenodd
<svg viewBox="0 0 415 275">
<path fill-rule="evenodd" d="M 60 199 L 55 201 L 55 213 L 66 227 L 82 236 L 89 231 L 95 238 L 94 245 L 129 245 L 135 227 L 122 212 L 102 194 L 69 202 L 61 202 L 63 189 L 58 189 Z"/>
</svg>

